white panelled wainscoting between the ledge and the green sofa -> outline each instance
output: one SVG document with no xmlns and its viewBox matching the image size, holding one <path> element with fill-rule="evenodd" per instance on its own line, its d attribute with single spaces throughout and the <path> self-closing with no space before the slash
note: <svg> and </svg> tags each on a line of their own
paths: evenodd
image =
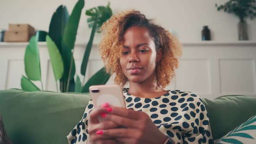
<svg viewBox="0 0 256 144">
<path fill-rule="evenodd" d="M 24 52 L 28 43 L 0 43 L 0 90 L 20 88 L 25 74 Z M 182 43 L 183 56 L 176 76 L 166 89 L 194 92 L 206 98 L 221 95 L 247 95 L 256 97 L 256 43 L 255 42 L 198 42 Z M 76 72 L 85 44 L 76 44 L 74 51 Z M 54 75 L 46 43 L 39 42 L 43 90 L 56 91 Z M 102 68 L 103 62 L 97 45 L 93 46 L 85 80 Z M 108 84 L 113 83 L 113 78 Z M 42 88 L 41 82 L 35 84 Z"/>
</svg>

